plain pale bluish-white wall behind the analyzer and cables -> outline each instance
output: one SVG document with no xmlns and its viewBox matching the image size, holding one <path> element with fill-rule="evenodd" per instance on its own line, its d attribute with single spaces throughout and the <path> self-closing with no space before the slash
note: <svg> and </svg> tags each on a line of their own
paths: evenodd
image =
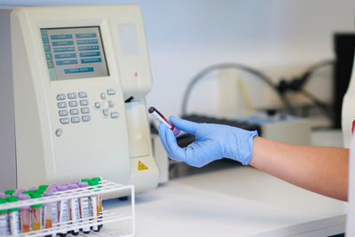
<svg viewBox="0 0 355 237">
<path fill-rule="evenodd" d="M 147 103 L 167 115 L 180 114 L 185 87 L 204 67 L 239 62 L 275 78 L 292 75 L 334 58 L 335 31 L 355 31 L 353 0 L 0 0 L 3 7 L 132 3 L 141 7 L 154 78 Z M 217 106 L 216 86 L 199 83 L 189 111 Z"/>
</svg>

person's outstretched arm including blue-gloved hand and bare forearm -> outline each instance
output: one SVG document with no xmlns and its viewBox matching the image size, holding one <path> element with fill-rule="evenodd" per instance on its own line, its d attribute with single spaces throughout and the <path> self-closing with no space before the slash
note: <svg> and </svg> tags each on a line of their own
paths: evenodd
<svg viewBox="0 0 355 237">
<path fill-rule="evenodd" d="M 179 130 L 196 137 L 181 148 L 171 130 L 160 125 L 162 145 L 170 158 L 201 167 L 223 157 L 250 164 L 296 186 L 347 200 L 349 150 L 293 146 L 256 137 L 255 132 L 217 124 L 188 122 L 170 117 Z"/>
</svg>

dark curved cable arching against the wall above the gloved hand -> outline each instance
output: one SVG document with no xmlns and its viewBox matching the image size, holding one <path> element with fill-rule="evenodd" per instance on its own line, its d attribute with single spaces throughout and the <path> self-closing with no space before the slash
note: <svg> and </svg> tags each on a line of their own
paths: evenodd
<svg viewBox="0 0 355 237">
<path fill-rule="evenodd" d="M 182 105 L 182 115 L 186 115 L 186 107 L 187 107 L 187 100 L 190 96 L 191 91 L 193 90 L 193 86 L 195 83 L 199 82 L 201 80 L 201 78 L 204 75 L 207 75 L 209 72 L 216 70 L 216 69 L 221 69 L 221 68 L 237 68 L 237 69 L 241 69 L 243 71 L 246 71 L 248 73 L 251 73 L 252 75 L 256 75 L 257 78 L 261 79 L 262 81 L 264 81 L 264 83 L 268 84 L 273 91 L 275 91 L 279 96 L 281 101 L 283 102 L 283 104 L 285 105 L 285 107 L 288 108 L 288 113 L 290 113 L 291 115 L 295 115 L 295 110 L 294 108 L 291 106 L 291 103 L 288 101 L 286 95 L 283 95 L 280 93 L 280 91 L 278 91 L 277 87 L 272 83 L 272 80 L 264 75 L 262 72 L 245 66 L 245 65 L 241 65 L 238 63 L 223 63 L 223 64 L 217 64 L 217 65 L 212 65 L 210 67 L 207 67 L 203 70 L 201 70 L 200 73 L 198 73 L 197 75 L 195 75 L 193 77 L 193 79 L 191 80 L 191 82 L 188 84 L 185 93 L 184 93 L 184 98 L 183 98 L 183 105 Z"/>
</svg>

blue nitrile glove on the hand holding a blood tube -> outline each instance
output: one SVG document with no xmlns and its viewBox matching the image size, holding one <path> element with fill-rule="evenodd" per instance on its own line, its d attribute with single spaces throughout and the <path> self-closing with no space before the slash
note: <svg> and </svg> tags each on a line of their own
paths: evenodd
<svg viewBox="0 0 355 237">
<path fill-rule="evenodd" d="M 171 159 L 201 167 L 209 162 L 230 158 L 248 165 L 253 155 L 253 138 L 257 131 L 242 130 L 228 125 L 197 123 L 170 116 L 177 129 L 195 136 L 196 140 L 181 148 L 172 131 L 164 124 L 159 125 L 159 136 Z"/>
</svg>

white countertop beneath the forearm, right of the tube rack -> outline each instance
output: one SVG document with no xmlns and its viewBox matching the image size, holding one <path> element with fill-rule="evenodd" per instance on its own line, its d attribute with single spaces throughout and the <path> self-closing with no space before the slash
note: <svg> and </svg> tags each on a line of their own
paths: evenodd
<svg viewBox="0 0 355 237">
<path fill-rule="evenodd" d="M 104 207 L 124 213 L 129 203 Z M 344 232 L 346 209 L 346 202 L 240 166 L 137 194 L 136 236 L 328 236 Z"/>
</svg>

